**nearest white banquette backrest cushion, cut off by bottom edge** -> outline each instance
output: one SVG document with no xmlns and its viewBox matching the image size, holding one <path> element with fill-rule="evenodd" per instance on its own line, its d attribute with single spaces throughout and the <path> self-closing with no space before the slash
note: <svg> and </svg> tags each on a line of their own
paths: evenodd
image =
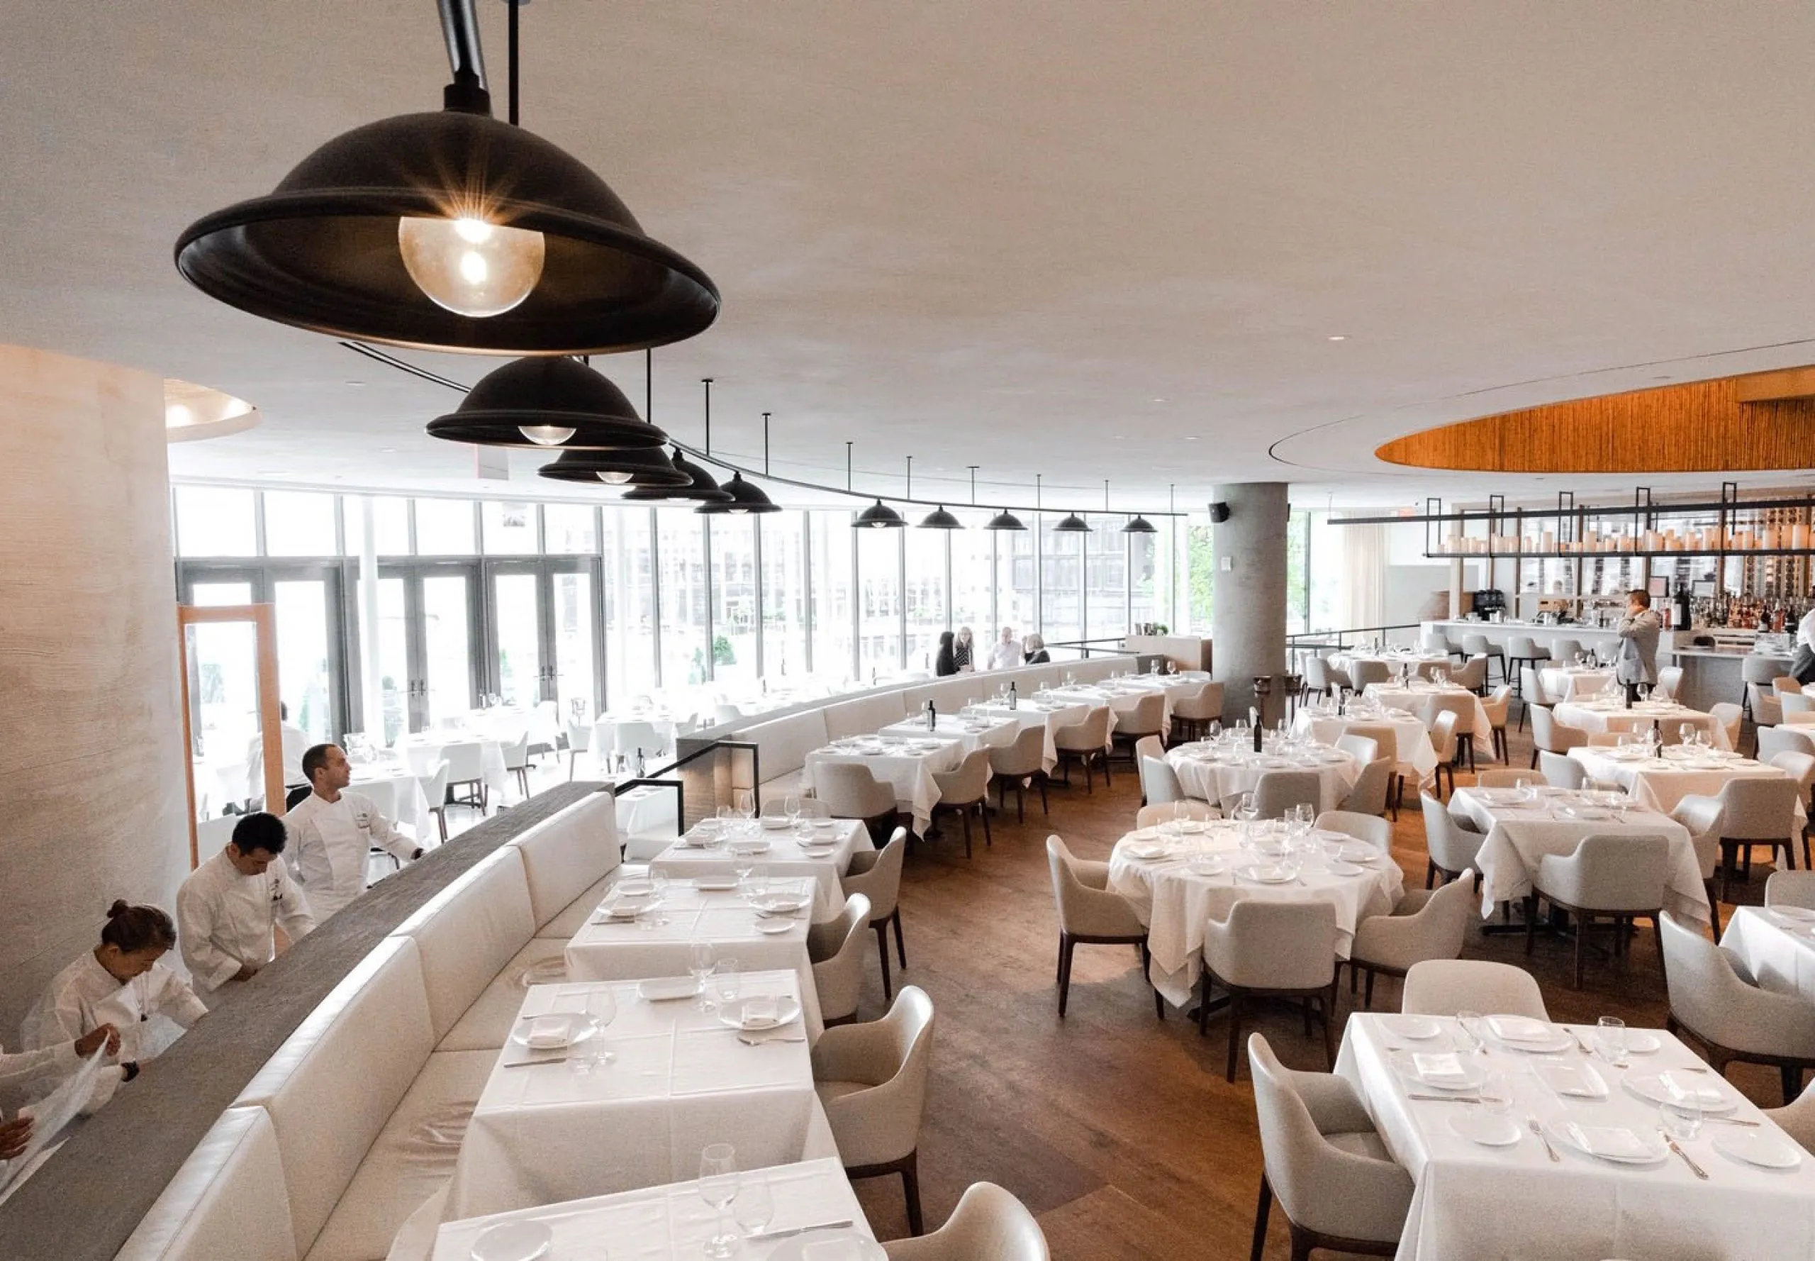
<svg viewBox="0 0 1815 1261">
<path fill-rule="evenodd" d="M 296 1261 L 270 1116 L 234 1107 L 189 1154 L 114 1261 Z"/>
</svg>

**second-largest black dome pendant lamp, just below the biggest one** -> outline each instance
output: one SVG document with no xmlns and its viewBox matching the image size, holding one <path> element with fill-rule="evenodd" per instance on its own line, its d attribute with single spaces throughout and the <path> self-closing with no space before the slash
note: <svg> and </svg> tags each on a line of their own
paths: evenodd
<svg viewBox="0 0 1815 1261">
<path fill-rule="evenodd" d="M 579 359 L 514 359 L 479 377 L 428 435 L 481 446 L 655 450 L 668 435 L 637 415 L 624 392 Z"/>
</svg>

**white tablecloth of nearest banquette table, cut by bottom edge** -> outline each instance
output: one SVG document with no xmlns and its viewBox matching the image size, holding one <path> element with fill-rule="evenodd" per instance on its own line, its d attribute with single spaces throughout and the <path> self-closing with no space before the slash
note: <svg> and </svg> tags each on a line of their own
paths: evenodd
<svg viewBox="0 0 1815 1261">
<path fill-rule="evenodd" d="M 748 1168 L 742 1149 L 737 1156 L 739 1168 Z M 858 1234 L 875 1237 L 837 1154 L 797 1165 L 777 1165 L 759 1178 L 768 1183 L 775 1203 L 770 1230 L 849 1221 Z M 612 1261 L 693 1261 L 704 1256 L 706 1239 L 715 1232 L 715 1214 L 699 1197 L 699 1181 L 690 1178 L 668 1187 L 450 1221 L 436 1236 L 434 1261 L 472 1261 L 472 1245 L 477 1237 L 506 1221 L 544 1223 L 554 1234 L 550 1261 L 599 1257 L 601 1241 L 610 1246 Z M 764 1261 L 780 1246 L 782 1241 L 746 1243 L 739 1257 Z"/>
</svg>

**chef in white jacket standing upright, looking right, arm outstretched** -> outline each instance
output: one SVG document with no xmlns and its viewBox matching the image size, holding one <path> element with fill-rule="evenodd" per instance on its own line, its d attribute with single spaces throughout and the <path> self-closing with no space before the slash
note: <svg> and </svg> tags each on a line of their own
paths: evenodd
<svg viewBox="0 0 1815 1261">
<path fill-rule="evenodd" d="M 372 798 L 352 793 L 352 764 L 338 744 L 303 753 L 303 775 L 312 793 L 283 816 L 290 829 L 296 880 L 309 894 L 318 924 L 365 893 L 365 860 L 372 846 L 399 862 L 423 856 L 423 847 L 390 826 Z"/>
</svg>

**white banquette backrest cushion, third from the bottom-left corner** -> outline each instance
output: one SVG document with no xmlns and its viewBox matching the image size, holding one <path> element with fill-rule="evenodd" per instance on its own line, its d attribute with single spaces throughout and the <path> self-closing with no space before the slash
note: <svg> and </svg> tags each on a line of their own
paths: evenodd
<svg viewBox="0 0 1815 1261">
<path fill-rule="evenodd" d="M 392 936 L 414 938 L 421 949 L 428 1016 L 439 1041 L 510 956 L 535 936 L 523 851 L 501 846 L 486 855 L 425 902 Z"/>
</svg>

